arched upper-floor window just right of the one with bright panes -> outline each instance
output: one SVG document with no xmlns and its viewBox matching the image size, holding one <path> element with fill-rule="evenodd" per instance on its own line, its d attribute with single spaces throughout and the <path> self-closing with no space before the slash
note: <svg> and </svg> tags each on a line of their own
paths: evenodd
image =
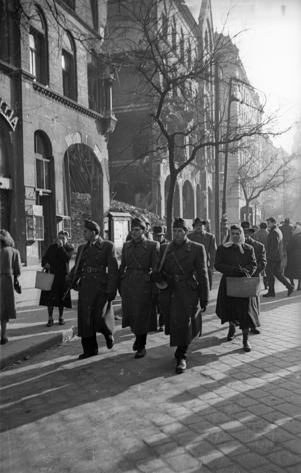
<svg viewBox="0 0 301 473">
<path fill-rule="evenodd" d="M 62 41 L 61 66 L 63 73 L 63 94 L 77 101 L 76 51 L 74 41 L 65 31 Z"/>
</svg>

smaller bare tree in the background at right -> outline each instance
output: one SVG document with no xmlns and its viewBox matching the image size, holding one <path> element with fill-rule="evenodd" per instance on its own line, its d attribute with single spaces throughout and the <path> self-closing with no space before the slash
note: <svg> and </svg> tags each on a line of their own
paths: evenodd
<svg viewBox="0 0 301 473">
<path fill-rule="evenodd" d="M 267 203 L 273 200 L 271 192 L 281 189 L 285 194 L 284 189 L 300 179 L 296 166 L 300 155 L 289 155 L 282 148 L 275 148 L 270 141 L 264 145 L 260 159 L 258 149 L 252 146 L 239 150 L 239 154 L 239 165 L 233 170 L 228 192 L 235 188 L 242 192 L 246 201 L 246 215 L 249 215 L 250 202 L 260 202 L 261 194 L 267 193 L 267 199 L 264 201 L 267 207 Z M 260 207 L 264 208 L 263 203 Z"/>
</svg>

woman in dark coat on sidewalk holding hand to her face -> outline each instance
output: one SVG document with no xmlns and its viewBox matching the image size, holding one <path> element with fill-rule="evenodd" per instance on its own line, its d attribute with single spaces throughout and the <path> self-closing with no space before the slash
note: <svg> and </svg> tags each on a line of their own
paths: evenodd
<svg viewBox="0 0 301 473">
<path fill-rule="evenodd" d="M 61 231 L 57 243 L 50 245 L 42 258 L 42 266 L 54 274 L 54 280 L 50 291 L 41 291 L 40 306 L 48 308 L 48 323 L 46 327 L 53 324 L 53 307 L 59 307 L 59 324 L 64 325 L 64 307 L 71 308 L 70 294 L 63 301 L 66 277 L 69 273 L 69 261 L 74 253 L 73 246 L 68 242 L 66 234 Z"/>
</svg>

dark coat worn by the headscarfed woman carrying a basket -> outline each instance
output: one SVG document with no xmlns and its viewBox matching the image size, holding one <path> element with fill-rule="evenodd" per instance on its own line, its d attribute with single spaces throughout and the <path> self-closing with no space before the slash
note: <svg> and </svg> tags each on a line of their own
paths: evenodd
<svg viewBox="0 0 301 473">
<path fill-rule="evenodd" d="M 223 274 L 220 281 L 217 300 L 216 315 L 221 319 L 222 324 L 225 322 L 234 322 L 238 319 L 241 330 L 247 328 L 260 327 L 258 317 L 258 306 L 256 297 L 238 298 L 227 296 L 226 277 L 233 277 L 235 268 L 240 265 L 246 268 L 249 275 L 252 276 L 257 268 L 256 258 L 252 246 L 243 243 L 242 254 L 237 246 L 234 245 L 226 248 L 219 245 L 215 256 L 215 269 Z"/>
</svg>

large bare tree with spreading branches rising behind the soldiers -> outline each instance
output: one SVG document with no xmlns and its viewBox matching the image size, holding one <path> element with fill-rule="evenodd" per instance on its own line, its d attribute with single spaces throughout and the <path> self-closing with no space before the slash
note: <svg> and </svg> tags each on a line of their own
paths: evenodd
<svg viewBox="0 0 301 473">
<path fill-rule="evenodd" d="M 193 161 L 204 168 L 204 150 L 224 151 L 242 139 L 268 137 L 277 113 L 265 114 L 259 104 L 252 119 L 224 126 L 229 78 L 217 74 L 225 92 L 219 120 L 214 110 L 215 71 L 235 67 L 237 49 L 229 36 L 203 37 L 184 2 L 112 0 L 108 3 L 107 56 L 111 68 L 131 75 L 123 90 L 129 107 L 144 111 L 132 141 L 148 134 L 147 149 L 134 160 L 148 163 L 166 158 L 170 171 L 167 235 L 171 236 L 177 176 Z M 125 72 L 124 72 L 125 71 Z M 118 78 L 119 80 L 119 78 Z M 127 144 L 129 146 L 129 143 Z M 125 165 L 129 166 L 129 163 Z"/>
</svg>

